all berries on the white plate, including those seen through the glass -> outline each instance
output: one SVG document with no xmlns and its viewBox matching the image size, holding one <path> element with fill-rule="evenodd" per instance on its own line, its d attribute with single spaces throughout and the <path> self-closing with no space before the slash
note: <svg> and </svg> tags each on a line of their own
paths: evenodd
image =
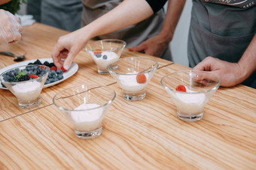
<svg viewBox="0 0 256 170">
<path fill-rule="evenodd" d="M 44 63 L 41 63 L 41 61 L 36 60 L 33 63 L 29 63 L 28 65 L 35 65 L 35 64 L 40 64 L 40 65 L 45 65 L 47 67 L 50 67 L 50 73 L 47 76 L 47 79 L 44 83 L 44 85 L 47 85 L 52 82 L 59 81 L 63 79 L 63 70 L 61 69 L 56 69 L 55 65 L 53 63 L 49 63 L 48 61 L 45 61 Z M 19 73 L 23 73 L 22 76 L 18 76 Z M 26 69 L 20 70 L 20 69 L 15 69 L 8 71 L 3 75 L 3 79 L 6 82 L 22 82 L 22 81 L 27 81 L 29 79 L 34 79 L 33 76 L 43 76 L 45 73 L 45 70 L 42 69 L 41 67 L 37 66 L 32 66 L 32 67 L 26 67 Z M 33 75 L 33 76 L 31 76 Z M 17 78 L 18 77 L 18 78 Z M 2 82 L 1 82 L 2 84 Z M 2 84 L 2 87 L 6 88 L 5 85 Z"/>
</svg>

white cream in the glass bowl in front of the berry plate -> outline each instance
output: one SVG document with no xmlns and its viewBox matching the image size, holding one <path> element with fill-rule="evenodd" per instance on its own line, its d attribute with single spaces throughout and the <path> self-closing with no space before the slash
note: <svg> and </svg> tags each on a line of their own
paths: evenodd
<svg viewBox="0 0 256 170">
<path fill-rule="evenodd" d="M 18 83 L 12 87 L 12 90 L 18 100 L 32 101 L 37 99 L 41 94 L 41 82 Z"/>
</svg>

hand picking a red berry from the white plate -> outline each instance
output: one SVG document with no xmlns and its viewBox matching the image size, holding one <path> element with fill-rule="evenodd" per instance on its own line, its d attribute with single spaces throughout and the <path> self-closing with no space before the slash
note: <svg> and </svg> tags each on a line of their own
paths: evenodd
<svg viewBox="0 0 256 170">
<path fill-rule="evenodd" d="M 65 70 L 69 70 L 75 56 L 78 55 L 78 52 L 80 52 L 87 43 L 87 40 L 84 40 L 81 35 L 82 32 L 80 29 L 59 37 L 51 53 L 53 63 L 56 67 L 61 68 L 63 66 Z"/>
</svg>

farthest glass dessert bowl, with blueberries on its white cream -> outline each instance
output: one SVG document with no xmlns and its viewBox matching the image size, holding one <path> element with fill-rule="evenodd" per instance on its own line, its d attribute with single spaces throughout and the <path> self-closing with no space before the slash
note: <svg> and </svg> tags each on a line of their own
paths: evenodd
<svg viewBox="0 0 256 170">
<path fill-rule="evenodd" d="M 108 74 L 108 64 L 120 58 L 125 46 L 126 42 L 123 40 L 91 40 L 85 46 L 85 50 L 95 61 L 98 67 L 98 73 Z"/>
</svg>

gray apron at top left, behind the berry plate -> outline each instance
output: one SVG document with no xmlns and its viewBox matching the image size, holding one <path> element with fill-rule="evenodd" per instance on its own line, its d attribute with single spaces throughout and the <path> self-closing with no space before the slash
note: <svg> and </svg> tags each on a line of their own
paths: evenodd
<svg viewBox="0 0 256 170">
<path fill-rule="evenodd" d="M 27 13 L 35 16 L 37 22 L 66 31 L 81 28 L 81 0 L 28 0 Z"/>
</svg>

